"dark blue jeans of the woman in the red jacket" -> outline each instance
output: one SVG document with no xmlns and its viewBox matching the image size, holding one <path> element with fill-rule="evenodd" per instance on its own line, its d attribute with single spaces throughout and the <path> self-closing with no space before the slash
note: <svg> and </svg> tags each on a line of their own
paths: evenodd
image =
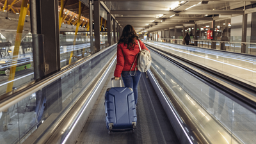
<svg viewBox="0 0 256 144">
<path fill-rule="evenodd" d="M 134 71 L 131 71 L 131 74 L 134 74 Z M 123 71 L 122 72 L 122 79 L 124 81 L 124 86 L 132 88 L 134 93 L 134 100 L 135 104 L 137 104 L 138 101 L 138 83 L 140 81 L 141 72 L 139 70 L 136 70 L 136 74 L 134 76 L 130 75 L 130 71 Z"/>
</svg>

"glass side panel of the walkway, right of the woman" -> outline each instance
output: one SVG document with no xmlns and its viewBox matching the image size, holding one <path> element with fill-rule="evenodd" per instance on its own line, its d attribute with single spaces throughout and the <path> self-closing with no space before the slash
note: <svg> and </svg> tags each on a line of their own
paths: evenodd
<svg viewBox="0 0 256 144">
<path fill-rule="evenodd" d="M 254 113 L 154 51 L 151 54 L 152 67 L 175 93 L 169 97 L 179 102 L 207 140 L 211 143 L 254 143 Z"/>
</svg>

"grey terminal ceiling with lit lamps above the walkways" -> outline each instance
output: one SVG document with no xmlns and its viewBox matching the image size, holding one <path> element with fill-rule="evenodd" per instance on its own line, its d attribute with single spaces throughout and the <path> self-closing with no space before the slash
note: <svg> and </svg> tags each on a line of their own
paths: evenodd
<svg viewBox="0 0 256 144">
<path fill-rule="evenodd" d="M 208 3 L 207 3 L 208 2 Z M 223 19 L 241 15 L 241 7 L 256 3 L 256 1 L 127 1 L 107 0 L 110 3 L 110 12 L 124 28 L 131 24 L 136 31 L 157 31 L 184 25 L 193 25 L 196 22 L 205 22 L 213 19 Z M 239 10 L 237 10 L 239 9 Z M 219 18 L 221 15 L 221 18 Z"/>
</svg>

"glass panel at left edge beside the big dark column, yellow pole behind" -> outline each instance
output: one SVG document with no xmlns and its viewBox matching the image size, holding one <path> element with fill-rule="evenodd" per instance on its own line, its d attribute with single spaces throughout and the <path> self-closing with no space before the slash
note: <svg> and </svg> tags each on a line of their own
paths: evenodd
<svg viewBox="0 0 256 144">
<path fill-rule="evenodd" d="M 0 95 L 34 80 L 31 33 L 1 31 L 0 51 Z M 9 79 L 11 75 L 14 79 Z"/>
</svg>

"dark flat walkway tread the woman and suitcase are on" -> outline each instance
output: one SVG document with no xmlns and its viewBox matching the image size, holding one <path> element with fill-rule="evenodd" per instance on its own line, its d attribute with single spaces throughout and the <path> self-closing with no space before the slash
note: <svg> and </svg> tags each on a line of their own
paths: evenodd
<svg viewBox="0 0 256 144">
<path fill-rule="evenodd" d="M 113 70 L 76 143 L 179 143 L 172 124 L 145 74 L 141 74 L 138 84 L 138 124 L 135 132 L 113 132 L 108 135 L 104 122 L 104 95 L 107 88 L 111 87 Z"/>
</svg>

